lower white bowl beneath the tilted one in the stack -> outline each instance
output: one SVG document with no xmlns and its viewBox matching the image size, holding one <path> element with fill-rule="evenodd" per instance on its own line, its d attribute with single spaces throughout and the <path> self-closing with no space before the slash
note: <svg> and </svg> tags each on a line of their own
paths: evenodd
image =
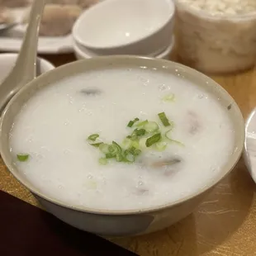
<svg viewBox="0 0 256 256">
<path fill-rule="evenodd" d="M 164 49 L 159 55 L 153 55 L 151 57 L 154 57 L 156 59 L 169 59 L 169 56 L 173 51 L 173 46 L 174 46 L 174 37 L 171 43 L 169 42 L 168 47 L 166 49 Z M 95 55 L 90 50 L 85 50 L 85 48 L 82 49 L 80 45 L 78 45 L 75 42 L 73 42 L 73 51 L 77 59 L 91 59 L 93 57 L 99 56 L 99 55 Z"/>
</svg>

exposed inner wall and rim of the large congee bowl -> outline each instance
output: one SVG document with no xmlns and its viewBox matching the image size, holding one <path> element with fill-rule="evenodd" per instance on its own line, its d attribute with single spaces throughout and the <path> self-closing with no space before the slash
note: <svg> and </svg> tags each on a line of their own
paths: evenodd
<svg viewBox="0 0 256 256">
<path fill-rule="evenodd" d="M 30 183 L 25 176 L 23 176 L 16 165 L 12 162 L 12 155 L 10 154 L 10 141 L 9 141 L 9 131 L 12 128 L 12 124 L 15 116 L 20 111 L 21 107 L 27 102 L 31 96 L 41 88 L 46 86 L 50 86 L 50 84 L 55 83 L 63 78 L 67 78 L 70 76 L 74 76 L 78 73 L 85 73 L 89 70 L 95 69 L 113 69 L 113 68 L 126 68 L 127 65 L 129 67 L 141 67 L 147 66 L 149 69 L 164 69 L 165 72 L 173 73 L 175 75 L 179 74 L 183 78 L 186 78 L 192 83 L 197 83 L 197 85 L 201 88 L 204 88 L 207 92 L 214 95 L 219 99 L 220 104 L 227 109 L 227 113 L 230 116 L 230 120 L 234 124 L 235 129 L 235 146 L 234 152 L 231 154 L 230 159 L 228 159 L 225 166 L 221 169 L 221 172 L 216 175 L 216 178 L 211 181 L 205 187 L 201 187 L 201 189 L 197 192 L 194 192 L 189 197 L 185 197 L 181 200 L 174 201 L 172 204 L 167 204 L 164 206 L 141 209 L 140 211 L 97 211 L 90 208 L 84 207 L 72 207 L 66 205 L 62 201 L 57 201 L 55 198 L 46 197 L 43 193 L 41 193 L 32 183 Z M 70 207 L 76 209 L 78 211 L 88 211 L 97 214 L 135 214 L 137 212 L 149 212 L 149 211 L 157 211 L 159 209 L 177 205 L 183 201 L 187 201 L 192 197 L 196 197 L 197 195 L 205 192 L 207 189 L 214 186 L 216 183 L 220 181 L 221 178 L 224 178 L 227 173 L 230 173 L 231 169 L 235 166 L 239 157 L 242 153 L 244 147 L 244 119 L 239 111 L 239 107 L 235 103 L 234 99 L 230 97 L 230 95 L 220 87 L 217 83 L 215 83 L 211 78 L 206 77 L 204 74 L 197 72 L 194 69 L 187 68 L 182 64 L 177 64 L 171 61 L 163 60 L 163 59 L 149 59 L 143 57 L 134 57 L 134 56 L 112 56 L 112 57 L 98 57 L 93 59 L 80 60 L 77 62 L 73 62 L 71 64 L 66 64 L 64 66 L 59 67 L 58 69 L 54 69 L 50 72 L 42 74 L 40 77 L 33 80 L 31 83 L 27 84 L 24 88 L 21 89 L 20 92 L 16 94 L 15 97 L 12 98 L 11 102 L 8 103 L 7 108 L 3 111 L 2 119 L 0 123 L 1 136 L 0 136 L 0 149 L 2 154 L 2 159 L 4 163 L 7 165 L 7 168 L 11 171 L 11 173 L 21 182 L 23 183 L 31 192 L 34 192 L 39 197 L 45 198 L 48 201 L 52 201 L 55 204 Z"/>
</svg>

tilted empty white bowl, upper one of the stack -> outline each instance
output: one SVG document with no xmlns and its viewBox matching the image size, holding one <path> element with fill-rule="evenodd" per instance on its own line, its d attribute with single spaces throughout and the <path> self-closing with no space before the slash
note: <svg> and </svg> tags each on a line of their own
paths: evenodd
<svg viewBox="0 0 256 256">
<path fill-rule="evenodd" d="M 152 55 L 173 34 L 172 0 L 107 0 L 73 26 L 73 40 L 96 55 Z"/>
</svg>

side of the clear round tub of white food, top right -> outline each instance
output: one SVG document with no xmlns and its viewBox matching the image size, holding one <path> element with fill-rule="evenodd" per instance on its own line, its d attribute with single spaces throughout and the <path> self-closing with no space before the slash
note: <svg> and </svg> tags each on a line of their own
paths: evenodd
<svg viewBox="0 0 256 256">
<path fill-rule="evenodd" d="M 183 64 L 204 73 L 235 73 L 254 66 L 256 12 L 235 12 L 235 1 L 234 8 L 223 14 L 213 7 L 205 11 L 189 2 L 174 2 L 178 57 Z"/>
</svg>

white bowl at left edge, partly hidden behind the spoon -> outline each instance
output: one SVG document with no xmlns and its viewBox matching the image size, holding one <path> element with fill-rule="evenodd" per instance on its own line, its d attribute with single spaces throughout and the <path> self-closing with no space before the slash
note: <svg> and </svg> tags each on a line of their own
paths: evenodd
<svg viewBox="0 0 256 256">
<path fill-rule="evenodd" d="M 11 72 L 16 63 L 17 56 L 17 54 L 0 54 L 0 83 L 7 77 L 8 73 Z M 40 64 L 38 69 L 40 71 L 39 75 L 51 69 L 55 69 L 55 66 L 49 61 L 41 58 L 38 58 L 38 60 Z"/>
</svg>

